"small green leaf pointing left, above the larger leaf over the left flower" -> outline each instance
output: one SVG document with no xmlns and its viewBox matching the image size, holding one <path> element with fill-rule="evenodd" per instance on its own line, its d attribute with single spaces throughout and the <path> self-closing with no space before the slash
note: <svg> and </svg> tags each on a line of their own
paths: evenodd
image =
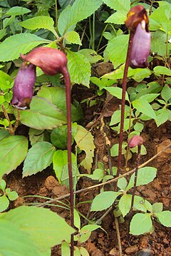
<svg viewBox="0 0 171 256">
<path fill-rule="evenodd" d="M 54 29 L 54 21 L 49 16 L 36 16 L 31 19 L 26 19 L 26 21 L 21 21 L 19 24 L 26 29 L 48 29 L 55 36 L 57 35 Z"/>
</svg>

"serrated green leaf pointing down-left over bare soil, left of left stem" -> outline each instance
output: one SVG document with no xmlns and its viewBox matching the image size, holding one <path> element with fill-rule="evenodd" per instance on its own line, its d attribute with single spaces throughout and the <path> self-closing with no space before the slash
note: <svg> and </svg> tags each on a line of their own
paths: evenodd
<svg viewBox="0 0 171 256">
<path fill-rule="evenodd" d="M 23 177 L 41 172 L 51 165 L 54 152 L 55 147 L 46 141 L 33 144 L 24 160 Z"/>
</svg>

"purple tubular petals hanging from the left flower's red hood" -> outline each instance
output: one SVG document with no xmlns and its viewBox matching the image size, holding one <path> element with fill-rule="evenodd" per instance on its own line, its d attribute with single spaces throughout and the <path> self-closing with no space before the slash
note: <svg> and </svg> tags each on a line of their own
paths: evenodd
<svg viewBox="0 0 171 256">
<path fill-rule="evenodd" d="M 31 98 L 33 97 L 35 81 L 36 66 L 32 64 L 26 65 L 24 63 L 14 81 L 13 98 L 11 100 L 12 106 L 23 110 L 29 107 Z"/>
</svg>

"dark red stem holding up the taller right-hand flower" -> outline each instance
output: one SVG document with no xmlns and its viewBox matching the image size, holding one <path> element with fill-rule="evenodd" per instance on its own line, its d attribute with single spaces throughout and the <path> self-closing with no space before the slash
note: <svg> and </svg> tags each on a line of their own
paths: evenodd
<svg viewBox="0 0 171 256">
<path fill-rule="evenodd" d="M 130 54 L 131 54 L 131 48 L 133 45 L 133 32 L 130 31 L 130 39 L 128 42 L 128 51 L 127 51 L 127 57 L 125 61 L 125 68 L 123 73 L 123 94 L 122 94 L 122 103 L 121 103 L 121 120 L 120 120 L 120 138 L 119 138 L 119 150 L 118 150 L 118 170 L 116 173 L 116 177 L 120 174 L 120 168 L 121 168 L 121 160 L 122 160 L 122 144 L 123 144 L 123 126 L 124 126 L 124 112 L 125 112 L 125 93 L 126 93 L 126 87 L 127 87 L 127 74 L 128 74 L 128 67 L 130 63 Z M 116 184 L 115 183 L 115 190 L 116 190 Z"/>
</svg>

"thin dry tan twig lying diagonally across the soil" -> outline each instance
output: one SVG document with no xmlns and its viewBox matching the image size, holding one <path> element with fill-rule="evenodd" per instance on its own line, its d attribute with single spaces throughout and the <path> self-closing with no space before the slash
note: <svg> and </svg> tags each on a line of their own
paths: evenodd
<svg viewBox="0 0 171 256">
<path fill-rule="evenodd" d="M 139 168 L 142 168 L 144 166 L 146 166 L 148 163 L 150 163 L 152 160 L 154 160 L 155 158 L 157 158 L 158 155 L 160 155 L 161 153 L 163 153 L 165 150 L 167 150 L 167 148 L 170 148 L 171 147 L 171 143 L 169 145 L 167 145 L 165 148 L 163 148 L 160 152 L 158 152 L 157 154 L 153 155 L 152 158 L 148 159 L 145 163 L 142 163 L 142 165 L 139 165 Z M 123 173 L 123 175 L 120 175 L 118 176 L 117 178 L 113 178 L 112 180 L 108 180 L 108 181 L 105 181 L 105 183 L 100 183 L 100 184 L 97 184 L 97 185 L 93 185 L 93 186 L 90 186 L 88 188 L 82 188 L 81 190 L 76 190 L 76 192 L 74 192 L 74 194 L 79 194 L 79 193 L 83 193 L 83 192 L 86 192 L 88 190 L 91 190 L 93 188 L 98 188 L 98 187 L 101 187 L 103 185 L 107 185 L 107 184 L 110 184 L 110 183 L 116 183 L 117 180 L 119 180 L 120 178 L 123 178 L 125 176 L 128 176 L 132 173 L 135 173 L 135 170 L 136 168 L 134 168 L 133 170 L 129 170 L 127 173 Z M 40 203 L 39 205 L 37 205 L 38 207 L 43 207 L 45 205 L 47 205 L 48 203 L 53 203 L 53 202 L 56 202 L 56 200 L 63 200 L 65 198 L 68 198 L 70 196 L 70 193 L 66 194 L 66 195 L 61 195 L 60 197 L 58 198 L 54 198 L 54 199 L 51 199 L 51 200 L 48 200 L 46 201 L 45 203 Z"/>
</svg>

